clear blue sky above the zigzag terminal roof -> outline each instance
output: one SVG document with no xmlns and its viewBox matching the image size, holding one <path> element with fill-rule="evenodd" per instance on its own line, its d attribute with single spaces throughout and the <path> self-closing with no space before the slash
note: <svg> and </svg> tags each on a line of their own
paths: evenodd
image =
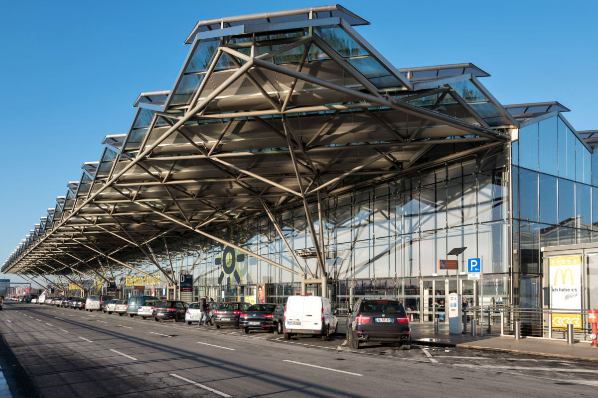
<svg viewBox="0 0 598 398">
<path fill-rule="evenodd" d="M 3 0 L 0 23 L 0 263 L 126 132 L 142 91 L 169 90 L 198 20 L 309 7 L 303 1 Z M 357 27 L 396 67 L 472 62 L 504 104 L 559 101 L 598 129 L 596 1 L 354 1 Z M 487 5 L 486 5 L 487 4 Z M 14 275 L 10 277 L 18 281 Z"/>
</svg>

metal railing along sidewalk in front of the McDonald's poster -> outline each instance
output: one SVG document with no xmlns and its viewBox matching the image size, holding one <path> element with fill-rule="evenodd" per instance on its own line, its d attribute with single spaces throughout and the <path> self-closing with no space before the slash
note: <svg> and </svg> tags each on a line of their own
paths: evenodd
<svg viewBox="0 0 598 398">
<path fill-rule="evenodd" d="M 587 310 L 514 308 L 508 304 L 467 307 L 463 308 L 463 332 L 471 332 L 471 320 L 475 320 L 477 335 L 520 334 L 523 337 L 568 340 L 571 337 L 568 325 L 573 325 L 575 340 L 590 341 L 591 326 L 587 314 Z"/>
</svg>

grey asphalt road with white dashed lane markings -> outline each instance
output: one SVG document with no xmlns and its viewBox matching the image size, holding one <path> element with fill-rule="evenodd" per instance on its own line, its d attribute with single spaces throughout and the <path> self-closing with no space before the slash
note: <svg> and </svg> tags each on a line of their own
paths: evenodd
<svg viewBox="0 0 598 398">
<path fill-rule="evenodd" d="M 596 363 L 269 332 L 5 301 L 0 366 L 19 397 L 595 397 Z"/>
</svg>

